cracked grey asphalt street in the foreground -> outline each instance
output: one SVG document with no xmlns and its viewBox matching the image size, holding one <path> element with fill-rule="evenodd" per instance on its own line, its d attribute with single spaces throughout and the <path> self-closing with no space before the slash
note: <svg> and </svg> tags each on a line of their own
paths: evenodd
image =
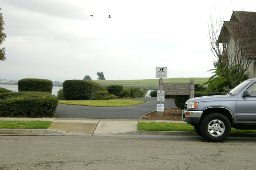
<svg viewBox="0 0 256 170">
<path fill-rule="evenodd" d="M 255 140 L 0 137 L 0 169 L 255 169 Z"/>
</svg>

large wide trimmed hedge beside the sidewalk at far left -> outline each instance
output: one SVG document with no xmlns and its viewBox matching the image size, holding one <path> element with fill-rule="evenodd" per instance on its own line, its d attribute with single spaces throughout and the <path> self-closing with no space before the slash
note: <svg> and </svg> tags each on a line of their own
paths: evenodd
<svg viewBox="0 0 256 170">
<path fill-rule="evenodd" d="M 55 116 L 58 98 L 48 92 L 7 92 L 0 94 L 0 117 Z"/>
</svg>

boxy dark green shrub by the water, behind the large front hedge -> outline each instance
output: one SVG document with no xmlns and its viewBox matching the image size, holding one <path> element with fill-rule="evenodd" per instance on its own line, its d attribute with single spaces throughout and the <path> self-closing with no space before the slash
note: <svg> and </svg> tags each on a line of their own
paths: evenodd
<svg viewBox="0 0 256 170">
<path fill-rule="evenodd" d="M 52 94 L 52 81 L 38 78 L 24 78 L 18 81 L 19 92 L 48 92 Z"/>
</svg>

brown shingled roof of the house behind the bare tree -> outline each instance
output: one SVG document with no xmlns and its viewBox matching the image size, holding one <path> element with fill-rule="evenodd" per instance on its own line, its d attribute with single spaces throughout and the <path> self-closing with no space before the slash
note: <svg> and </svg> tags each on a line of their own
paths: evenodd
<svg viewBox="0 0 256 170">
<path fill-rule="evenodd" d="M 256 12 L 233 11 L 229 21 L 224 21 L 218 42 L 227 43 L 225 40 L 230 34 L 233 39 L 244 41 L 245 48 L 256 48 Z M 243 34 L 243 40 L 241 39 Z"/>
</svg>

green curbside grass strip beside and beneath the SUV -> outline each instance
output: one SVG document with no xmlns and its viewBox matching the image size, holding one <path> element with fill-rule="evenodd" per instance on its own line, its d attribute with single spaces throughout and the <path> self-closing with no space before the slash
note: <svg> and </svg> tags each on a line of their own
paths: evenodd
<svg viewBox="0 0 256 170">
<path fill-rule="evenodd" d="M 187 123 L 166 123 L 166 122 L 139 122 L 138 130 L 152 130 L 152 131 L 185 131 L 195 132 L 194 126 Z M 256 133 L 256 130 L 237 130 L 231 128 L 233 133 Z"/>
</svg>

